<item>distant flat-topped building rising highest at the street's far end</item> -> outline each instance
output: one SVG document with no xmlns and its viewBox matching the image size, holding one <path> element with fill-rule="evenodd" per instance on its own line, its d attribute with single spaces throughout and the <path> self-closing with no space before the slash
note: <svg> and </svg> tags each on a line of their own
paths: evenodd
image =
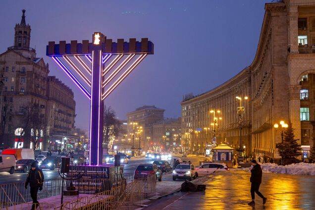
<svg viewBox="0 0 315 210">
<path fill-rule="evenodd" d="M 135 148 L 139 148 L 140 141 L 140 148 L 148 150 L 147 137 L 153 139 L 153 123 L 163 119 L 164 111 L 154 105 L 144 105 L 127 113 L 127 134 Z"/>
</svg>

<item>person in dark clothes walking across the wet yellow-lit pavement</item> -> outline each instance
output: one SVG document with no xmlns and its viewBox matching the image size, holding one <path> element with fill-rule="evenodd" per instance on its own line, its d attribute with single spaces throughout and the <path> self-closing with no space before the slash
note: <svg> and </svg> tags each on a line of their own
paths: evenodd
<svg viewBox="0 0 315 210">
<path fill-rule="evenodd" d="M 248 205 L 255 205 L 255 193 L 262 198 L 262 204 L 266 203 L 267 198 L 263 197 L 262 193 L 259 192 L 259 186 L 262 183 L 262 168 L 261 165 L 257 163 L 255 159 L 252 160 L 253 168 L 251 170 L 251 195 L 252 195 L 252 202 Z"/>
</svg>

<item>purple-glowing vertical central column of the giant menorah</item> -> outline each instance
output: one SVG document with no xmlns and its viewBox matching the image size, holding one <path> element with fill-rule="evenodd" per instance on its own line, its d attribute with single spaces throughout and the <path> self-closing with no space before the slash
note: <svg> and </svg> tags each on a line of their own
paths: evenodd
<svg viewBox="0 0 315 210">
<path fill-rule="evenodd" d="M 102 105 L 102 48 L 92 51 L 90 165 L 102 164 L 103 105 Z"/>
</svg>

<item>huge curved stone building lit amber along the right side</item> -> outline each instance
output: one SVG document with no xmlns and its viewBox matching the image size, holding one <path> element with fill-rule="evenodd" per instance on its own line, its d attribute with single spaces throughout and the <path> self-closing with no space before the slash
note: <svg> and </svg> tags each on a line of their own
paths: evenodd
<svg viewBox="0 0 315 210">
<path fill-rule="evenodd" d="M 206 138 L 206 134 L 197 138 L 194 131 L 211 127 L 212 108 L 221 109 L 222 114 L 217 141 L 239 145 L 240 100 L 235 97 L 248 96 L 242 102 L 242 143 L 247 154 L 279 158 L 275 145 L 281 142 L 280 128 L 273 125 L 284 120 L 292 124 L 302 144 L 302 158 L 307 158 L 315 138 L 314 66 L 315 0 L 266 3 L 252 64 L 219 87 L 181 103 L 188 147 L 192 150 L 198 138 Z"/>
</svg>

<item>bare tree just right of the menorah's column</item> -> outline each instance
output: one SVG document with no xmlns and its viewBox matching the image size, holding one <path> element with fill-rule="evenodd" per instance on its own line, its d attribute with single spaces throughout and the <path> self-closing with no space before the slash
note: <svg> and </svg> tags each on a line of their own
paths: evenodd
<svg viewBox="0 0 315 210">
<path fill-rule="evenodd" d="M 107 148 L 115 136 L 121 131 L 121 122 L 116 118 L 115 111 L 109 106 L 104 106 L 104 129 L 103 129 L 103 145 Z"/>
</svg>

